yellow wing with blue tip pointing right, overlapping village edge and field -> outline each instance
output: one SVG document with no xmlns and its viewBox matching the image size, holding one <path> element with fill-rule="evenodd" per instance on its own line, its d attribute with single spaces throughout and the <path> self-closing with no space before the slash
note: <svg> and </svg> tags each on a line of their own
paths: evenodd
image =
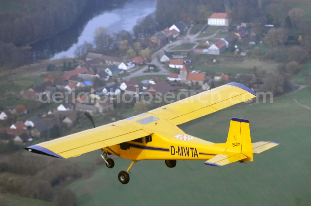
<svg viewBox="0 0 311 206">
<path fill-rule="evenodd" d="M 179 125 L 254 97 L 256 93 L 243 84 L 228 83 L 151 110 L 149 113 L 164 116 L 175 125 Z"/>
</svg>

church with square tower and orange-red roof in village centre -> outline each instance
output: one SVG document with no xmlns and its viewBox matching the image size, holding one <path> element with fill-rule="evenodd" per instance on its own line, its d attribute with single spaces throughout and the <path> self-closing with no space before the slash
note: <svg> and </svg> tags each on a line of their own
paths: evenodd
<svg viewBox="0 0 311 206">
<path fill-rule="evenodd" d="M 187 65 L 184 65 L 182 69 L 179 70 L 180 81 L 185 84 L 198 84 L 203 85 L 205 74 L 202 73 L 190 73 Z"/>
</svg>

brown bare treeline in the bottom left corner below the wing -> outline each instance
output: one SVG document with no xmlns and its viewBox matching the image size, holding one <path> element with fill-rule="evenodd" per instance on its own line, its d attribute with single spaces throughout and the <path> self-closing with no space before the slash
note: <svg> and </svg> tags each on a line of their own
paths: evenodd
<svg viewBox="0 0 311 206">
<path fill-rule="evenodd" d="M 53 202 L 55 205 L 74 205 L 76 195 L 63 189 L 65 184 L 82 176 L 77 164 L 62 162 L 51 157 L 10 155 L 0 162 L 1 193 Z"/>
</svg>

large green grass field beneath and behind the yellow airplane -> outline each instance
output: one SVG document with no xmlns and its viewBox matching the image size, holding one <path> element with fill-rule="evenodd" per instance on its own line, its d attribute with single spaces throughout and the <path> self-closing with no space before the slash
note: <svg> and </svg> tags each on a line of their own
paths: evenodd
<svg viewBox="0 0 311 206">
<path fill-rule="evenodd" d="M 76 192 L 78 205 L 307 205 L 311 201 L 311 111 L 291 98 L 311 106 L 310 92 L 302 89 L 272 104 L 234 106 L 181 125 L 193 136 L 225 142 L 233 116 L 249 119 L 253 142 L 281 143 L 254 155 L 253 163 L 218 168 L 203 161 L 179 161 L 171 169 L 164 161 L 141 161 L 132 167 L 129 184 L 122 185 L 117 175 L 130 161 L 115 159 L 113 169 L 103 166 L 67 188 Z"/>
</svg>

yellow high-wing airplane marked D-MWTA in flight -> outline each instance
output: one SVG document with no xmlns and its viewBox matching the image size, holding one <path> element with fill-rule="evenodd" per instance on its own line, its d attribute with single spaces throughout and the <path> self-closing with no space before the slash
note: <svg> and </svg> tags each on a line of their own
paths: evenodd
<svg viewBox="0 0 311 206">
<path fill-rule="evenodd" d="M 228 83 L 143 114 L 25 149 L 62 159 L 102 149 L 101 156 L 108 168 L 114 167 L 114 160 L 107 158 L 107 155 L 131 159 L 128 169 L 118 174 L 122 184 L 128 183 L 128 172 L 138 160 L 165 160 L 169 168 L 175 167 L 176 160 L 207 160 L 205 164 L 212 166 L 253 161 L 254 153 L 261 153 L 278 143 L 252 143 L 246 119 L 231 119 L 225 143 L 213 143 L 193 137 L 177 125 L 251 100 L 255 96 L 256 93 L 243 84 Z"/>
</svg>

